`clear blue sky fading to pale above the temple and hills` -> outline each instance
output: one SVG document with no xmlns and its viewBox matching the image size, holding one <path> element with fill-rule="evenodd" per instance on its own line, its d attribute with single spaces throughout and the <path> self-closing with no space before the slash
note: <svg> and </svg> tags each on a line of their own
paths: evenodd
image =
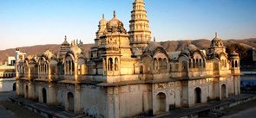
<svg viewBox="0 0 256 118">
<path fill-rule="evenodd" d="M 82 40 L 113 10 L 127 31 L 134 0 L 0 0 L 0 50 Z M 256 37 L 256 0 L 144 0 L 156 41 Z"/>
</svg>

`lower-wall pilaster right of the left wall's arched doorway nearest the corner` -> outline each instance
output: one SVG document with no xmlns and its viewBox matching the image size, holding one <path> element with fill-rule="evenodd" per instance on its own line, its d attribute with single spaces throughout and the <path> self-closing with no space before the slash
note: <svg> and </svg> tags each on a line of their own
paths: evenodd
<svg viewBox="0 0 256 118">
<path fill-rule="evenodd" d="M 81 85 L 75 84 L 75 108 L 74 108 L 75 114 L 82 113 L 81 91 L 82 91 Z"/>
</svg>

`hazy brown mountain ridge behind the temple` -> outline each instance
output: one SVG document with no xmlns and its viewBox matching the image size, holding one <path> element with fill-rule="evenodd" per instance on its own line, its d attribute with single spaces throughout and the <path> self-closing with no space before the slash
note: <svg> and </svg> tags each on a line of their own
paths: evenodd
<svg viewBox="0 0 256 118">
<path fill-rule="evenodd" d="M 200 40 L 167 40 L 161 41 L 161 46 L 164 47 L 167 52 L 181 51 L 187 47 L 187 44 L 194 44 L 200 49 L 207 49 L 210 46 L 211 40 L 200 39 Z M 239 43 L 242 46 L 247 48 L 256 48 L 256 38 L 244 39 L 244 40 L 223 40 L 225 46 Z M 93 47 L 94 44 L 83 44 L 83 52 L 86 57 L 88 57 L 90 47 Z M 43 52 L 47 49 L 51 50 L 53 53 L 57 53 L 61 45 L 57 44 L 47 44 L 47 45 L 36 45 L 32 47 L 17 47 L 23 53 L 27 55 L 42 55 Z M 0 50 L 0 62 L 6 60 L 9 56 L 14 56 L 15 48 L 10 48 L 6 50 Z"/>
</svg>

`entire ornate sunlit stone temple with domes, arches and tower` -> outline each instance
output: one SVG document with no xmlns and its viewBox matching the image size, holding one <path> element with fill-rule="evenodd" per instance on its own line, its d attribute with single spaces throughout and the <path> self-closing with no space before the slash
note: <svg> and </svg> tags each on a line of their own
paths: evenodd
<svg viewBox="0 0 256 118">
<path fill-rule="evenodd" d="M 150 41 L 147 12 L 135 0 L 130 31 L 104 16 L 89 57 L 82 42 L 64 42 L 16 63 L 16 94 L 94 117 L 158 115 L 213 99 L 240 95 L 240 58 L 227 55 L 217 34 L 209 53 L 194 45 L 169 53 Z M 142 35 L 141 35 L 142 34 Z"/>
</svg>

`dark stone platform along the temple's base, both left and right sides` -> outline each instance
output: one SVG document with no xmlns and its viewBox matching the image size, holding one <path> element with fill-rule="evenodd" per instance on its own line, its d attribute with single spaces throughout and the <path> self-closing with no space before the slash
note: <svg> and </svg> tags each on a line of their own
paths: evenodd
<svg viewBox="0 0 256 118">
<path fill-rule="evenodd" d="M 73 113 L 65 111 L 60 106 L 48 106 L 46 104 L 34 102 L 28 99 L 24 99 L 19 96 L 10 96 L 11 102 L 15 102 L 23 106 L 26 109 L 43 115 L 47 118 L 84 118 L 89 117 L 86 115 L 75 115 Z M 222 101 L 210 101 L 204 104 L 196 105 L 194 108 L 181 108 L 181 109 L 170 109 L 166 114 L 154 115 L 154 116 L 145 116 L 141 115 L 138 117 L 154 117 L 154 118 L 186 118 L 186 117 L 198 117 L 207 113 L 207 115 L 213 112 L 213 115 L 216 114 L 214 111 L 220 111 L 222 109 L 227 109 L 236 105 L 239 105 L 243 102 L 248 102 L 256 99 L 256 94 L 242 94 L 240 96 L 229 97 L 226 100 Z"/>
</svg>

